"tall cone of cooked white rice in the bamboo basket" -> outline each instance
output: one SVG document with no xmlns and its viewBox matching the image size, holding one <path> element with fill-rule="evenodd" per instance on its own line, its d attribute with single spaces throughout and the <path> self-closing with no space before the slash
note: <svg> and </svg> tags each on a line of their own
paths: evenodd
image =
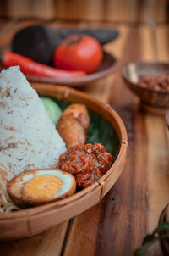
<svg viewBox="0 0 169 256">
<path fill-rule="evenodd" d="M 19 67 L 0 73 L 0 164 L 9 178 L 55 167 L 66 147 Z"/>
</svg>

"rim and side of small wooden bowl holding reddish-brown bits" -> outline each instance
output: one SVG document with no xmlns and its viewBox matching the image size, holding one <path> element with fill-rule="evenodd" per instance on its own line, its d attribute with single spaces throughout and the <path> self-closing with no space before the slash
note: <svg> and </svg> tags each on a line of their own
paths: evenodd
<svg viewBox="0 0 169 256">
<path fill-rule="evenodd" d="M 143 109 L 154 114 L 166 114 L 169 110 L 169 92 L 143 88 L 138 81 L 141 75 L 169 75 L 169 63 L 131 62 L 123 66 L 122 75 L 130 90 L 140 98 Z"/>
</svg>

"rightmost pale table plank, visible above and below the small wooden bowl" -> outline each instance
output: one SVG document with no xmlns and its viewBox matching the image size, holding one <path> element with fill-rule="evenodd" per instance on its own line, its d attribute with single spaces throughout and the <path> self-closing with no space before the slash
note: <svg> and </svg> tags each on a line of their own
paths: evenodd
<svg viewBox="0 0 169 256">
<path fill-rule="evenodd" d="M 156 60 L 169 61 L 168 28 L 168 25 L 158 25 L 155 28 Z M 150 233 L 158 225 L 162 209 L 169 203 L 169 133 L 164 117 L 147 114 L 145 123 L 149 137 L 147 232 Z M 150 248 L 149 255 L 161 255 L 158 242 Z"/>
</svg>

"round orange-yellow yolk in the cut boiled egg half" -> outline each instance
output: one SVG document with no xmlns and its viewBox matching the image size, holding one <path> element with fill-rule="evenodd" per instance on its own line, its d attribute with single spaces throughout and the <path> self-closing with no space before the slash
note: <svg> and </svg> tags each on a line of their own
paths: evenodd
<svg viewBox="0 0 169 256">
<path fill-rule="evenodd" d="M 31 200 L 52 198 L 63 186 L 63 181 L 54 175 L 35 176 L 22 189 L 22 195 Z"/>
</svg>

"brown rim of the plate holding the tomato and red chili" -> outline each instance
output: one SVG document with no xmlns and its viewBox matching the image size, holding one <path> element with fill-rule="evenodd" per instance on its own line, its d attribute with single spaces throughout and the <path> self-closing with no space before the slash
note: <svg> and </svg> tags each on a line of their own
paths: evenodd
<svg viewBox="0 0 169 256">
<path fill-rule="evenodd" d="M 3 47 L 3 49 L 9 49 L 9 47 Z M 83 86 L 92 81 L 97 81 L 106 75 L 112 74 L 117 70 L 117 58 L 111 53 L 103 52 L 103 60 L 99 68 L 90 75 L 75 77 L 75 78 L 50 78 L 43 76 L 35 76 L 35 75 L 25 75 L 28 81 L 30 82 L 41 82 L 41 83 L 52 83 L 59 84 L 64 86 Z M 0 70 L 3 70 L 4 67 L 0 66 Z"/>
</svg>

